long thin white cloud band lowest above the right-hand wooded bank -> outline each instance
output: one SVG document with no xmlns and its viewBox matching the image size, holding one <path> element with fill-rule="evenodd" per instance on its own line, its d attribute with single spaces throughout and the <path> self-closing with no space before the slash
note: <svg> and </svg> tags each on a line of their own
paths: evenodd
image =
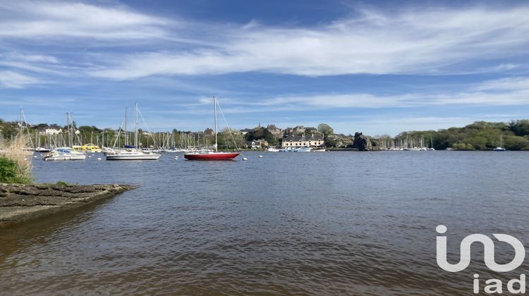
<svg viewBox="0 0 529 296">
<path fill-rule="evenodd" d="M 202 102 L 202 101 L 201 101 Z M 528 106 L 529 78 L 488 80 L 460 92 L 407 93 L 396 95 L 348 93 L 304 94 L 303 96 L 272 97 L 257 101 L 223 99 L 229 104 L 227 113 L 263 111 L 301 111 L 341 108 L 410 108 L 425 106 Z"/>
</svg>

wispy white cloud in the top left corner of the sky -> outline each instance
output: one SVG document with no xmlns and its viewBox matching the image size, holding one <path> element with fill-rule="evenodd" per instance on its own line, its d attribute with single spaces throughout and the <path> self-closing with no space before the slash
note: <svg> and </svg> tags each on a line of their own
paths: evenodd
<svg viewBox="0 0 529 296">
<path fill-rule="evenodd" d="M 123 6 L 104 7 L 70 1 L 0 3 L 0 37 L 46 39 L 83 37 L 143 39 L 164 37 L 171 22 Z"/>
</svg>

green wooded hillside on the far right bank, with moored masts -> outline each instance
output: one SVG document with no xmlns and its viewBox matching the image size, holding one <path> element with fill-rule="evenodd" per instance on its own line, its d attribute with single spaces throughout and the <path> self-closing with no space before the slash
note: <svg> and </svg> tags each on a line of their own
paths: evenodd
<svg viewBox="0 0 529 296">
<path fill-rule="evenodd" d="M 509 123 L 476 121 L 463 128 L 401 132 L 396 137 L 378 137 L 386 146 L 420 142 L 434 149 L 490 150 L 501 145 L 508 150 L 529 150 L 529 120 Z"/>
</svg>

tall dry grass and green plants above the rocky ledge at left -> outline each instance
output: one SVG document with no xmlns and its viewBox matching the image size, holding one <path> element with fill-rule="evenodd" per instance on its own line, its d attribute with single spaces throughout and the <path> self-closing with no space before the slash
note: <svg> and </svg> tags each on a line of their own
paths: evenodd
<svg viewBox="0 0 529 296">
<path fill-rule="evenodd" d="M 33 182 L 31 155 L 24 151 L 28 137 L 0 142 L 0 183 Z"/>
</svg>

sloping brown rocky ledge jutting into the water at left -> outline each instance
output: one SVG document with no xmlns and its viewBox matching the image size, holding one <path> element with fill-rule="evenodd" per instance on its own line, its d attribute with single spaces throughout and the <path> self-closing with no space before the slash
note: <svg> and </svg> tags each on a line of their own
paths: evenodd
<svg viewBox="0 0 529 296">
<path fill-rule="evenodd" d="M 92 204 L 136 187 L 0 183 L 0 227 Z"/>
</svg>

